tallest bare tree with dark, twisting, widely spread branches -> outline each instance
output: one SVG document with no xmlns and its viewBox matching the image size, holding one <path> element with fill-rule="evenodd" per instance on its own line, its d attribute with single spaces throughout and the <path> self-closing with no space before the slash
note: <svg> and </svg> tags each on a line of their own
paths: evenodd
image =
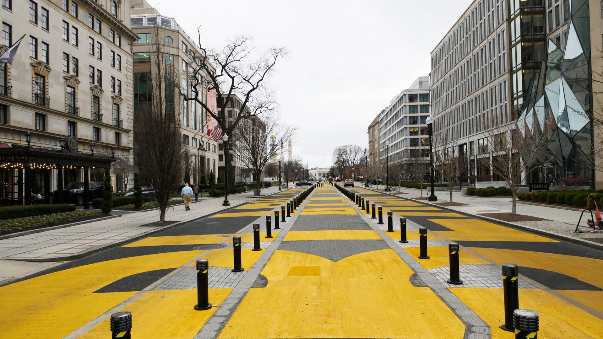
<svg viewBox="0 0 603 339">
<path fill-rule="evenodd" d="M 277 60 L 285 57 L 286 51 L 283 47 L 270 48 L 256 60 L 251 60 L 253 46 L 251 38 L 246 36 L 229 40 L 223 49 L 209 50 L 201 43 L 200 28 L 198 48 L 201 53 L 189 50 L 189 56 L 194 60 L 189 74 L 191 92 L 181 92 L 181 95 L 184 100 L 196 101 L 230 137 L 242 119 L 276 109 L 273 95 L 264 82 Z M 204 100 L 207 95 L 215 95 L 217 109 Z M 232 105 L 235 95 L 241 99 L 241 107 Z M 226 107 L 233 108 L 230 118 L 226 116 Z M 227 147 L 224 147 L 224 165 L 231 168 L 230 150 Z M 235 182 L 234 175 L 234 171 L 229 171 L 229 183 Z"/>
</svg>

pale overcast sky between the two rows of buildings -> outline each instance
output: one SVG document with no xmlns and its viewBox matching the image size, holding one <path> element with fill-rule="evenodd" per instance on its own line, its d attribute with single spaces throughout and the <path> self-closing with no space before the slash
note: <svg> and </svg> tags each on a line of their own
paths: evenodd
<svg viewBox="0 0 603 339">
<path fill-rule="evenodd" d="M 267 86 L 283 121 L 298 127 L 293 155 L 330 166 L 335 147 L 368 147 L 367 127 L 390 100 L 429 75 L 429 53 L 470 0 L 154 2 L 191 36 L 221 48 L 230 37 L 257 49 L 285 46 Z M 285 155 L 286 157 L 286 155 Z"/>
</svg>

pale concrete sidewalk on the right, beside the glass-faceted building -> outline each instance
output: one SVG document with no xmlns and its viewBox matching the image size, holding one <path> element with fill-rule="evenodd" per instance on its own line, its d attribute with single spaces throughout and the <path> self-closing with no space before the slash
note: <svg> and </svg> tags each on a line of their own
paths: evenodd
<svg viewBox="0 0 603 339">
<path fill-rule="evenodd" d="M 426 185 L 428 186 L 428 185 Z M 370 187 L 369 187 L 370 188 Z M 384 186 L 379 185 L 379 192 L 384 192 Z M 447 203 L 450 201 L 450 191 L 435 191 L 435 195 L 438 197 L 438 201 L 427 201 L 421 200 L 421 190 L 414 188 L 400 188 L 400 192 L 404 194 L 390 193 L 403 198 L 416 199 L 421 203 L 434 204 L 438 206 L 441 203 Z M 384 192 L 387 193 L 387 192 Z M 423 189 L 423 199 L 429 196 L 429 189 Z M 452 201 L 455 203 L 467 204 L 467 206 L 438 206 L 439 208 L 449 209 L 450 211 L 458 211 L 466 214 L 480 217 L 481 214 L 488 213 L 510 213 L 513 208 L 513 203 L 510 197 L 496 198 L 496 197 L 474 197 L 472 195 L 461 195 L 460 191 L 452 191 Z M 583 233 L 576 233 L 576 224 L 580 218 L 582 209 L 563 209 L 555 206 L 545 206 L 533 203 L 522 203 L 517 200 L 516 213 L 523 215 L 530 215 L 532 217 L 538 217 L 546 219 L 545 221 L 515 221 L 513 223 L 505 222 L 508 224 L 516 224 L 519 226 L 527 227 L 528 229 L 534 229 L 536 232 L 550 233 L 552 236 L 560 235 L 564 238 L 575 239 L 576 241 L 582 241 L 583 244 L 603 249 L 601 242 L 603 241 L 603 233 L 599 233 L 598 230 L 593 230 L 591 227 L 586 227 L 586 218 L 590 218 L 590 214 L 585 213 L 582 217 L 581 226 L 579 229 L 584 231 Z M 568 240 L 569 240 L 568 239 Z M 593 244 L 593 239 L 598 242 Z"/>
</svg>

